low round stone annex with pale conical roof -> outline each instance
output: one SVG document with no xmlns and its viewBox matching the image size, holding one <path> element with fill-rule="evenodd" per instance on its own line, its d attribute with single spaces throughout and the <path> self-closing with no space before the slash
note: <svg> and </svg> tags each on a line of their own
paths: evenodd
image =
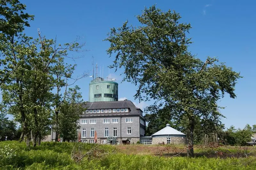
<svg viewBox="0 0 256 170">
<path fill-rule="evenodd" d="M 172 128 L 170 124 L 151 135 L 152 144 L 187 144 L 187 137 L 184 133 Z"/>
</svg>

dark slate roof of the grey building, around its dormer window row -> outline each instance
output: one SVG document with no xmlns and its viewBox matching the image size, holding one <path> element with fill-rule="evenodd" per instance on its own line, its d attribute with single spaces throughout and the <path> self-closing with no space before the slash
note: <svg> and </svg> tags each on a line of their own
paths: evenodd
<svg viewBox="0 0 256 170">
<path fill-rule="evenodd" d="M 130 112 L 116 112 L 116 113 L 84 113 L 81 117 L 89 116 L 118 116 L 118 115 L 141 115 L 142 110 L 136 107 L 130 100 L 112 101 L 112 102 L 87 102 L 83 107 L 87 110 L 95 109 L 124 109 L 128 108 Z M 141 115 L 142 116 L 142 115 Z"/>
</svg>

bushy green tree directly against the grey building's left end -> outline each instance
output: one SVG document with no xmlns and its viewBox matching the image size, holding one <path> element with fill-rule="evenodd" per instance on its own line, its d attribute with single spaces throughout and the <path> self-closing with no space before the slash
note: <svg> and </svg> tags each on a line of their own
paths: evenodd
<svg viewBox="0 0 256 170">
<path fill-rule="evenodd" d="M 80 88 L 75 86 L 69 88 L 66 94 L 66 100 L 61 104 L 59 113 L 59 131 L 60 136 L 65 141 L 75 141 L 77 139 L 77 129 L 80 128 L 77 121 L 84 108 L 82 107 L 83 99 L 80 92 Z"/>
</svg>

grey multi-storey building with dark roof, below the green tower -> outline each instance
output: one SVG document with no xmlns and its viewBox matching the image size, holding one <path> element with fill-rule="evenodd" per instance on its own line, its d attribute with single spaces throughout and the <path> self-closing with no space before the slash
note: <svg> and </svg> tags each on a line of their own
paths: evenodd
<svg viewBox="0 0 256 170">
<path fill-rule="evenodd" d="M 95 142 L 95 131 L 97 143 L 137 143 L 145 136 L 146 120 L 130 100 L 88 102 L 84 107 L 87 110 L 80 116 L 78 129 L 84 143 Z"/>
</svg>

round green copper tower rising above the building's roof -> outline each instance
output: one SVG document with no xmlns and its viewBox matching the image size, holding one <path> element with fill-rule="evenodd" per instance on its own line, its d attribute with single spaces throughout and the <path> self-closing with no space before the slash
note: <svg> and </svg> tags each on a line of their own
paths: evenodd
<svg viewBox="0 0 256 170">
<path fill-rule="evenodd" d="M 116 79 L 96 77 L 89 84 L 89 102 L 118 101 Z"/>
</svg>

